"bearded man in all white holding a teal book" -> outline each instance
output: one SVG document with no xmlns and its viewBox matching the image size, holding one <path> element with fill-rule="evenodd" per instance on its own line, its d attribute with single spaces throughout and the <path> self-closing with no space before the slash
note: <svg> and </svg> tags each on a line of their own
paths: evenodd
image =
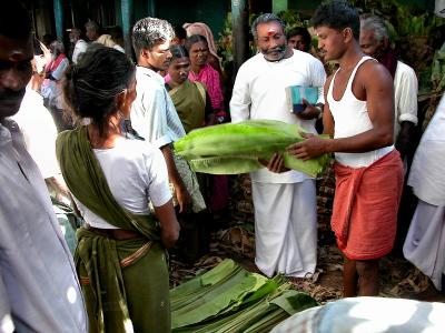
<svg viewBox="0 0 445 333">
<path fill-rule="evenodd" d="M 316 133 L 320 108 L 307 103 L 303 112 L 289 112 L 286 88 L 317 87 L 322 103 L 326 79 L 322 62 L 287 47 L 285 23 L 273 13 L 258 17 L 251 32 L 260 52 L 239 68 L 230 100 L 233 122 L 279 120 Z M 309 276 L 317 263 L 315 180 L 297 171 L 278 174 L 267 169 L 251 172 L 250 178 L 258 269 L 268 276 L 275 272 Z"/>
</svg>

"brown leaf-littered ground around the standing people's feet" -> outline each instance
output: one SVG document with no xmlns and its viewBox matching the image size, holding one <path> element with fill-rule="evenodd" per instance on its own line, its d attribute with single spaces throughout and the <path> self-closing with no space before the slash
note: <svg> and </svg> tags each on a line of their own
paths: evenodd
<svg viewBox="0 0 445 333">
<path fill-rule="evenodd" d="M 332 184 L 318 184 L 325 192 L 318 198 L 318 262 L 315 274 L 307 279 L 289 279 L 296 290 L 304 291 L 320 304 L 342 297 L 343 255 L 337 249 L 329 229 Z M 323 189 L 325 186 L 326 189 Z M 170 260 L 170 284 L 205 272 L 226 258 L 230 258 L 251 272 L 258 272 L 255 259 L 254 214 L 248 176 L 237 176 L 231 182 L 228 214 L 216 216 L 211 223 L 217 230 L 211 233 L 210 251 L 194 263 L 185 263 L 175 255 Z M 415 299 L 416 294 L 431 287 L 429 280 L 402 254 L 394 253 L 380 261 L 380 296 Z M 432 301 L 445 302 L 443 295 Z"/>
</svg>

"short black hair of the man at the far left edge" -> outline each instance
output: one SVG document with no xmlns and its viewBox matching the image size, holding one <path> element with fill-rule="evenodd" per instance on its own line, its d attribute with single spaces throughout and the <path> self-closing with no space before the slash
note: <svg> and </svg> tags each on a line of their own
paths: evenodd
<svg viewBox="0 0 445 333">
<path fill-rule="evenodd" d="M 0 34 L 9 39 L 26 40 L 31 36 L 32 23 L 21 1 L 3 1 L 0 10 Z"/>
</svg>

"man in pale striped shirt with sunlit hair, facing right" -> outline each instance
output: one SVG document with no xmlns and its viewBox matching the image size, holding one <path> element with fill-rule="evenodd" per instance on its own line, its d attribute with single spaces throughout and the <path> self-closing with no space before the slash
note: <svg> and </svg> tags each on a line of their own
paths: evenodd
<svg viewBox="0 0 445 333">
<path fill-rule="evenodd" d="M 131 125 L 145 140 L 158 147 L 167 162 L 168 176 L 175 188 L 179 212 L 190 206 L 194 212 L 206 205 L 196 174 L 187 162 L 171 151 L 172 142 L 186 135 L 175 105 L 165 89 L 164 78 L 170 59 L 170 41 L 175 37 L 169 22 L 145 18 L 132 28 L 132 44 L 138 62 L 137 98 L 131 107 Z"/>
</svg>

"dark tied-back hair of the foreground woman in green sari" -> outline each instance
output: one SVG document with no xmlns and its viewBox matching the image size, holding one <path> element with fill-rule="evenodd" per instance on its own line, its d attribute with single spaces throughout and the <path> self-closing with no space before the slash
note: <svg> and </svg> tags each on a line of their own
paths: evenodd
<svg viewBox="0 0 445 333">
<path fill-rule="evenodd" d="M 75 119 L 91 119 L 107 137 L 109 118 L 119 110 L 116 97 L 128 88 L 135 64 L 118 50 L 93 43 L 66 72 L 65 101 Z"/>
</svg>

